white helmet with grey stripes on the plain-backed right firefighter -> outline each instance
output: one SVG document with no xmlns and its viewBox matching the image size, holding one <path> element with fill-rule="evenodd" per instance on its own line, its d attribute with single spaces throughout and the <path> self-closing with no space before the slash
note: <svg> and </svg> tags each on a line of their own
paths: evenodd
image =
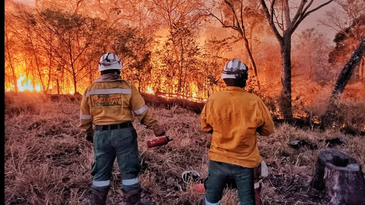
<svg viewBox="0 0 365 205">
<path fill-rule="evenodd" d="M 234 58 L 232 61 L 226 63 L 223 68 L 221 79 L 224 78 L 237 78 L 241 76 L 242 73 L 247 75 L 248 68 L 245 63 Z"/>
</svg>

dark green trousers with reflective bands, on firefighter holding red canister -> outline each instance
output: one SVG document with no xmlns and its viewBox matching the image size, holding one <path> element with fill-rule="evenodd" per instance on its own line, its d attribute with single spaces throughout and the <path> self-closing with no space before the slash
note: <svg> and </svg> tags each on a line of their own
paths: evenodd
<svg viewBox="0 0 365 205">
<path fill-rule="evenodd" d="M 141 187 L 138 174 L 139 161 L 137 132 L 134 127 L 95 131 L 93 136 L 94 163 L 91 169 L 93 188 L 110 186 L 115 158 L 122 178 L 122 189 L 129 191 Z"/>
</svg>

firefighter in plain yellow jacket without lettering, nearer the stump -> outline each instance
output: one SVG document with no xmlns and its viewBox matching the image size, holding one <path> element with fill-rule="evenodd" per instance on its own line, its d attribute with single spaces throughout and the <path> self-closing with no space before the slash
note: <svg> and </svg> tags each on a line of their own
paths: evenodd
<svg viewBox="0 0 365 205">
<path fill-rule="evenodd" d="M 274 131 L 271 114 L 255 94 L 243 90 L 248 68 L 236 58 L 223 69 L 227 87 L 210 96 L 201 113 L 201 128 L 212 133 L 205 197 L 200 204 L 219 205 L 227 179 L 234 179 L 241 205 L 254 205 L 254 168 L 262 162 L 256 132 Z"/>
</svg>

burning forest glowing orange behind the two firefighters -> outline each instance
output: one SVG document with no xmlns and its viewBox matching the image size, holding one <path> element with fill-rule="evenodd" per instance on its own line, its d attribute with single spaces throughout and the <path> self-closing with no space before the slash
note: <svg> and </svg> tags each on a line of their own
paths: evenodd
<svg viewBox="0 0 365 205">
<path fill-rule="evenodd" d="M 291 43 L 273 43 L 277 39 L 291 38 L 282 38 L 283 36 L 277 32 L 273 34 L 270 31 L 274 28 L 271 27 L 272 24 L 268 24 L 266 20 L 269 19 L 265 19 L 263 15 L 267 11 L 258 10 L 260 7 L 265 8 L 264 5 L 260 6 L 259 1 L 256 2 L 258 3 L 256 6 L 241 3 L 242 6 L 237 8 L 230 8 L 226 2 L 222 2 L 222 4 L 217 3 L 217 7 L 204 7 L 204 9 L 201 8 L 203 4 L 184 4 L 189 9 L 176 8 L 177 10 L 172 12 L 177 13 L 176 19 L 173 18 L 171 22 L 165 24 L 162 23 L 166 19 L 162 8 L 164 4 L 170 4 L 169 1 L 156 5 L 141 4 L 140 8 L 128 7 L 131 9 L 129 12 L 134 14 L 148 8 L 143 12 L 151 17 L 145 22 L 141 22 L 141 19 L 128 19 L 128 24 L 123 22 L 123 18 L 115 16 L 120 14 L 118 12 L 128 11 L 119 11 L 118 8 L 116 8 L 118 12 L 111 11 L 110 16 L 93 11 L 91 12 L 93 15 L 87 18 L 85 13 L 88 13 L 88 9 L 85 8 L 77 9 L 74 15 L 70 15 L 67 11 L 52 9 L 53 7 L 47 3 L 37 5 L 39 8 L 30 6 L 29 13 L 22 12 L 23 9 L 18 7 L 9 6 L 6 8 L 7 18 L 5 18 L 5 91 L 82 93 L 99 76 L 98 55 L 103 52 L 100 45 L 104 45 L 104 50 L 118 54 L 124 67 L 123 79 L 136 85 L 140 92 L 196 102 L 204 102 L 212 93 L 222 90 L 225 86 L 220 80 L 223 66 L 228 59 L 240 58 L 247 64 L 250 78 L 255 79 L 254 84 L 248 85 L 250 90 L 257 90 L 264 96 L 270 97 L 281 95 L 280 97 L 288 102 L 285 107 L 280 108 L 284 116 L 304 117 L 306 107 L 319 106 L 312 103 L 314 97 L 320 95 L 327 97 L 327 93 L 331 92 L 334 80 L 354 50 L 353 45 L 359 44 L 364 36 L 364 32 L 360 32 L 364 29 L 362 24 L 357 23 L 362 20 L 361 13 L 357 15 L 358 18 L 351 17 L 354 24 L 345 30 L 351 33 L 341 33 L 345 35 L 344 38 L 336 39 L 335 43 L 341 45 L 341 48 L 327 46 L 330 45 L 331 39 L 323 38 L 323 34 L 315 28 L 303 29 L 300 33 L 294 32 L 298 25 L 287 28 L 286 33 L 293 34 Z M 303 1 L 300 4 L 306 3 Z M 140 10 L 141 8 L 143 9 Z M 261 13 L 252 18 L 237 16 L 238 19 L 242 18 L 239 20 L 242 25 L 236 25 L 232 22 L 231 16 L 240 13 L 238 11 L 240 8 Z M 305 7 L 293 6 L 285 9 L 289 8 L 296 12 L 295 9 Z M 97 10 L 96 7 L 95 9 Z M 178 13 L 181 11 L 191 12 L 184 13 L 183 16 L 192 15 L 192 20 L 179 19 L 178 16 L 181 14 Z M 201 12 L 196 11 L 207 13 L 201 15 Z M 222 19 L 216 16 L 219 13 L 224 13 Z M 284 15 L 291 11 L 275 11 L 275 13 Z M 44 18 L 45 16 L 47 18 Z M 205 24 L 196 24 L 204 22 L 208 16 L 212 17 L 212 20 L 217 20 L 216 22 L 223 26 L 223 30 L 218 30 L 217 25 L 210 24 L 209 21 Z M 170 16 L 166 17 L 170 19 Z M 155 21 L 157 18 L 161 21 Z M 285 16 L 282 16 L 278 19 L 284 18 Z M 302 22 L 302 18 L 304 17 L 296 19 L 297 24 Z M 111 24 L 100 24 L 101 20 L 105 19 L 110 19 Z M 250 21 L 256 23 L 247 23 Z M 68 22 L 68 24 L 60 25 L 54 22 Z M 37 26 L 34 26 L 34 23 Z M 285 22 L 282 23 L 279 22 L 278 25 L 284 25 Z M 233 26 L 230 26 L 231 24 Z M 246 24 L 246 27 L 243 27 L 243 24 Z M 89 25 L 97 26 L 91 28 Z M 153 26 L 151 32 L 146 32 L 145 25 Z M 227 28 L 236 26 L 240 29 L 235 29 L 233 36 L 225 32 Z M 210 27 L 215 29 L 203 29 L 202 33 L 197 32 L 201 28 Z M 284 27 L 287 26 L 283 26 L 283 29 Z M 113 32 L 106 32 L 110 30 Z M 345 31 L 338 30 L 339 33 Z M 73 33 L 68 34 L 68 32 Z M 56 35 L 49 35 L 50 33 Z M 361 34 L 357 35 L 358 33 Z M 96 38 L 104 34 L 106 38 Z M 76 39 L 71 36 L 75 36 Z M 31 41 L 31 39 L 37 40 Z M 64 45 L 63 42 L 69 43 Z M 280 45 L 292 45 L 292 47 L 281 48 Z M 260 55 L 252 55 L 253 50 Z M 282 59 L 288 50 L 292 50 L 293 59 Z M 280 55 L 281 51 L 284 53 Z M 331 54 L 331 59 L 328 59 L 328 54 Z M 362 63 L 353 68 L 354 77 L 349 80 L 350 83 L 364 80 L 364 58 L 358 59 Z M 266 69 L 267 65 L 270 65 L 270 69 Z M 291 65 L 295 69 L 292 70 Z M 314 70 L 310 65 L 321 66 Z M 25 70 L 29 75 L 20 76 L 18 70 Z M 283 73 L 288 70 L 292 70 L 291 75 Z M 281 76 L 286 77 L 281 78 Z M 300 82 L 300 85 L 294 87 L 292 86 L 294 82 Z M 319 91 L 315 93 L 315 90 Z M 294 105 L 299 96 L 305 96 L 306 99 Z M 281 113 L 275 115 L 282 117 Z"/>
</svg>

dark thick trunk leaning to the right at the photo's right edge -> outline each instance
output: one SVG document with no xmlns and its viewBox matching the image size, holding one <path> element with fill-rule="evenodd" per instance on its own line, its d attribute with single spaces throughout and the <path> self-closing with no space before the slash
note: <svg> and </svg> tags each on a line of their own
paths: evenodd
<svg viewBox="0 0 365 205">
<path fill-rule="evenodd" d="M 334 117 L 336 116 L 338 101 L 341 98 L 343 90 L 349 81 L 351 74 L 353 73 L 355 67 L 359 64 L 362 56 L 365 53 L 365 38 L 363 38 L 357 47 L 357 49 L 352 54 L 349 61 L 347 61 L 345 67 L 343 67 L 341 73 L 339 74 L 335 87 L 332 91 L 330 100 L 328 101 L 327 111 L 324 113 L 322 119 L 322 128 L 330 126 Z"/>
</svg>

